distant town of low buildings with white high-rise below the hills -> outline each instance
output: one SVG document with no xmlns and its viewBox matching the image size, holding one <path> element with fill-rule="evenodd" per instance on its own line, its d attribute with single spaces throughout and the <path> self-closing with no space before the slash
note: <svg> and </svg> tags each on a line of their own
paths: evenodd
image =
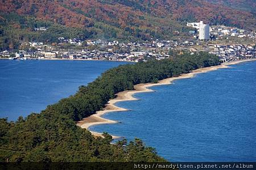
<svg viewBox="0 0 256 170">
<path fill-rule="evenodd" d="M 0 57 L 10 60 L 27 59 L 63 59 L 63 60 L 112 60 L 141 62 L 148 60 L 162 60 L 183 52 L 195 53 L 208 51 L 217 55 L 222 62 L 249 59 L 255 57 L 255 45 L 237 43 L 250 40 L 255 44 L 255 32 L 245 31 L 234 27 L 209 26 L 202 21 L 187 23 L 195 28 L 189 31 L 191 37 L 178 40 L 152 40 L 151 42 L 120 43 L 118 40 L 81 40 L 79 38 L 66 39 L 59 37 L 58 42 L 21 42 L 20 47 L 26 49 L 0 52 Z M 35 28 L 35 31 L 46 31 L 46 27 Z M 177 34 L 179 32 L 177 31 Z M 229 42 L 229 39 L 236 43 Z M 69 44 L 70 47 L 60 48 Z M 75 47 L 75 48 L 74 48 Z"/>
</svg>

